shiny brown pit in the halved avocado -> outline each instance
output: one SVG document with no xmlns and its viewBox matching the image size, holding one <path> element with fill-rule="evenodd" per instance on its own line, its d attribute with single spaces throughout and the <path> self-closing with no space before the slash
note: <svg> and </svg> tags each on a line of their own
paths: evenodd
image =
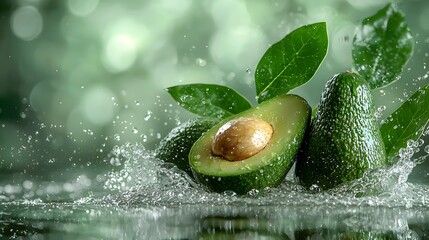
<svg viewBox="0 0 429 240">
<path fill-rule="evenodd" d="M 258 118 L 237 118 L 225 123 L 212 142 L 212 154 L 229 161 L 247 159 L 269 143 L 273 127 Z"/>
</svg>

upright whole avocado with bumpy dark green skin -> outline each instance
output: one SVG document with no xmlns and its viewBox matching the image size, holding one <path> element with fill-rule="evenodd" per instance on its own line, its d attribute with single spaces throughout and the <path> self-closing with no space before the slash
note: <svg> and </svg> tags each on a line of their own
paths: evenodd
<svg viewBox="0 0 429 240">
<path fill-rule="evenodd" d="M 329 189 L 386 164 L 371 91 L 357 73 L 329 80 L 298 154 L 296 177 Z"/>
</svg>

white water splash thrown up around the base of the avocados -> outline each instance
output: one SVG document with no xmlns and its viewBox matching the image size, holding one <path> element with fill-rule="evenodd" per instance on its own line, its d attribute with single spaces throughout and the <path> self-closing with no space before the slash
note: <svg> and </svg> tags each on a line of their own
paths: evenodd
<svg viewBox="0 0 429 240">
<path fill-rule="evenodd" d="M 234 192 L 206 191 L 185 172 L 173 164 L 154 157 L 141 144 L 115 147 L 112 152 L 123 160 L 124 168 L 109 174 L 105 187 L 112 194 L 96 202 L 114 205 L 171 206 L 183 204 L 210 205 L 300 205 L 323 204 L 380 207 L 425 207 L 429 201 L 429 186 L 409 183 L 411 171 L 429 154 L 414 157 L 426 149 L 423 140 L 409 141 L 401 149 L 395 164 L 371 170 L 355 181 L 325 192 L 308 191 L 287 177 L 277 188 L 253 190 L 244 196 Z"/>
</svg>

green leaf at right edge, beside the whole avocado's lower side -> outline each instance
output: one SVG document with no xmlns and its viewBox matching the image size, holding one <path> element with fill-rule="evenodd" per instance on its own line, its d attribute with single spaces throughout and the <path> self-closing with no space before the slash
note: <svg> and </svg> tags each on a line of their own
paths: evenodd
<svg viewBox="0 0 429 240">
<path fill-rule="evenodd" d="M 420 88 L 404 102 L 381 125 L 381 136 L 388 159 L 399 149 L 407 146 L 408 140 L 418 140 L 429 121 L 429 84 Z"/>
</svg>

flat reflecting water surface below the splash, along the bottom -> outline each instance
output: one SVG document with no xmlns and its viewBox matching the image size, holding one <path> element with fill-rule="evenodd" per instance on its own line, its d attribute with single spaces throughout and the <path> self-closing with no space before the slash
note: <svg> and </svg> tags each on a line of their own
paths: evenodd
<svg viewBox="0 0 429 240">
<path fill-rule="evenodd" d="M 423 209 L 321 206 L 114 207 L 2 204 L 3 237 L 76 239 L 427 239 Z M 235 238 L 233 238 L 235 237 Z M 37 238 L 39 239 L 39 238 Z M 43 239 L 43 238 L 41 238 Z"/>
</svg>

